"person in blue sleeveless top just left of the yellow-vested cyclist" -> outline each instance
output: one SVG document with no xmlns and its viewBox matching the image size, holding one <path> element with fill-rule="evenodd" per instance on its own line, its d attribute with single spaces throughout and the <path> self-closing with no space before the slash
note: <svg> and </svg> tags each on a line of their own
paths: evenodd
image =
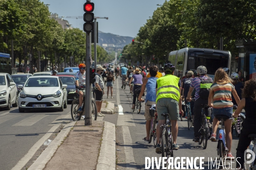
<svg viewBox="0 0 256 170">
<path fill-rule="evenodd" d="M 139 101 L 142 101 L 141 97 L 143 96 L 145 89 L 147 88 L 147 94 L 146 94 L 146 98 L 145 98 L 145 120 L 146 120 L 146 134 L 147 136 L 145 138 L 143 138 L 144 141 L 149 141 L 149 133 L 150 133 L 150 126 L 151 126 L 151 119 L 152 117 L 150 116 L 149 113 L 149 108 L 151 108 L 152 105 L 156 104 L 156 83 L 157 83 L 157 68 L 151 66 L 149 68 L 149 72 L 152 75 L 152 77 L 149 77 L 148 79 L 145 79 L 143 81 L 143 84 L 141 86 L 141 91 L 140 91 L 140 95 L 138 97 Z"/>
</svg>

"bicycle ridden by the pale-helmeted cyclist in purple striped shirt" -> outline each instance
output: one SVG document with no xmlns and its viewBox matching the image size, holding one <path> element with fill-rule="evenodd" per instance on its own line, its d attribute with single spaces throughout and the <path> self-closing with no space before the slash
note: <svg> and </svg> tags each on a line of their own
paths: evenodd
<svg viewBox="0 0 256 170">
<path fill-rule="evenodd" d="M 199 136 L 199 141 L 198 143 L 199 144 L 202 144 L 203 143 L 203 148 L 206 149 L 207 147 L 207 141 L 208 141 L 208 136 L 210 135 L 210 131 L 209 131 L 209 127 L 208 127 L 208 124 L 207 124 L 207 118 L 205 116 L 205 112 L 204 112 L 204 109 L 205 108 L 209 108 L 209 106 L 207 104 L 201 104 L 201 106 L 203 107 L 202 108 L 202 111 L 201 111 L 201 128 L 198 132 L 201 133 L 201 135 Z"/>
</svg>

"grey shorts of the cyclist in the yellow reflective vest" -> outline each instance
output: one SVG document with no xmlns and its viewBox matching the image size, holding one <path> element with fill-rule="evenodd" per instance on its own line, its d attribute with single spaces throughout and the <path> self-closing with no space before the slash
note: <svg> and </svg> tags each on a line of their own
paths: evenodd
<svg viewBox="0 0 256 170">
<path fill-rule="evenodd" d="M 172 98 L 161 98 L 157 100 L 157 116 L 158 120 L 165 120 L 161 114 L 169 113 L 171 120 L 179 119 L 179 102 Z"/>
</svg>

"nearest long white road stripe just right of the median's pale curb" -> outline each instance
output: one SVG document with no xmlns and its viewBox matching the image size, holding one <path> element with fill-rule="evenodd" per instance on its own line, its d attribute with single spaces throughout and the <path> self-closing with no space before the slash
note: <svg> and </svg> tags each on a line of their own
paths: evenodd
<svg viewBox="0 0 256 170">
<path fill-rule="evenodd" d="M 132 170 L 136 168 L 136 162 L 134 160 L 134 153 L 132 149 L 132 139 L 128 126 L 122 127 L 123 139 L 124 139 L 124 148 L 125 148 L 125 163 L 126 169 Z"/>
</svg>

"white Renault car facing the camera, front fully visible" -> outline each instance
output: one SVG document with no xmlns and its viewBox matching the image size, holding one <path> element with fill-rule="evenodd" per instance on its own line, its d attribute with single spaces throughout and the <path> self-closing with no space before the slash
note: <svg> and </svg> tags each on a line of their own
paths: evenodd
<svg viewBox="0 0 256 170">
<path fill-rule="evenodd" d="M 18 96 L 19 112 L 30 109 L 67 108 L 67 85 L 57 76 L 32 76 L 27 79 Z"/>
</svg>

